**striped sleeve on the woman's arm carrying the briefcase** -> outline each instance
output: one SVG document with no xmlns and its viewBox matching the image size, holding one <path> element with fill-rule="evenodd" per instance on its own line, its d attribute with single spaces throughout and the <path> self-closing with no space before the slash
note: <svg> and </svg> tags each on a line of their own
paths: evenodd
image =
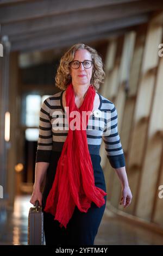
<svg viewBox="0 0 163 256">
<path fill-rule="evenodd" d="M 36 162 L 50 162 L 53 138 L 50 118 L 51 100 L 43 101 L 40 109 L 39 139 L 37 141 Z"/>
</svg>

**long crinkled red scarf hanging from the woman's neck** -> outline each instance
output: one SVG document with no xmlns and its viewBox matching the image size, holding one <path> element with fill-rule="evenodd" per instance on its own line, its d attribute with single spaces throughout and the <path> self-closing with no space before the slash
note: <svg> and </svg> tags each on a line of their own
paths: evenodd
<svg viewBox="0 0 163 256">
<path fill-rule="evenodd" d="M 95 186 L 86 136 L 86 127 L 93 109 L 95 95 L 95 88 L 90 85 L 82 106 L 78 108 L 74 101 L 72 83 L 66 89 L 66 106 L 69 107 L 68 135 L 58 160 L 55 179 L 44 209 L 55 216 L 54 220 L 60 222 L 60 227 L 66 228 L 76 205 L 81 212 L 87 212 L 91 202 L 94 202 L 98 207 L 105 203 L 103 197 L 107 193 Z M 71 121 L 76 119 L 76 115 L 73 118 L 70 117 L 72 111 L 79 113 L 80 127 L 82 127 L 82 111 L 90 111 L 86 115 L 85 130 L 82 128 L 80 130 L 70 129 Z"/>
</svg>

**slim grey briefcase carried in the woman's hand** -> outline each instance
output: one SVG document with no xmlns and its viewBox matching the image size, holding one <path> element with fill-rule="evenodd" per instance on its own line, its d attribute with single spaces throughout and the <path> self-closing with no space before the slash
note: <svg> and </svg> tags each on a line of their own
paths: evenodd
<svg viewBox="0 0 163 256">
<path fill-rule="evenodd" d="M 43 212 L 36 200 L 35 207 L 28 214 L 28 245 L 43 245 Z"/>
</svg>

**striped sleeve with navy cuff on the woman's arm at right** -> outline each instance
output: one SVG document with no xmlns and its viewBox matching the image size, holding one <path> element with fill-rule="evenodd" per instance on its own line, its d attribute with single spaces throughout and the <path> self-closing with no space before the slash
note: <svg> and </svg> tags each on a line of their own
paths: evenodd
<svg viewBox="0 0 163 256">
<path fill-rule="evenodd" d="M 121 139 L 118 134 L 118 117 L 114 103 L 111 102 L 111 109 L 106 118 L 105 130 L 103 132 L 103 141 L 109 162 L 113 168 L 125 166 L 125 158 L 122 149 Z"/>
</svg>

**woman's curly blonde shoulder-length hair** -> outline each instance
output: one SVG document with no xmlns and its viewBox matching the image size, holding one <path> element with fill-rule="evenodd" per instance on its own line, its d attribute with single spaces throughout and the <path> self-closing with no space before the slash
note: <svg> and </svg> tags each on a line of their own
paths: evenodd
<svg viewBox="0 0 163 256">
<path fill-rule="evenodd" d="M 57 69 L 57 75 L 55 76 L 55 86 L 61 90 L 65 90 L 68 84 L 71 82 L 70 75 L 70 62 L 74 59 L 74 54 L 77 50 L 85 49 L 91 53 L 93 60 L 93 69 L 91 84 L 96 90 L 99 89 L 99 84 L 104 83 L 102 80 L 105 78 L 105 72 L 103 70 L 102 58 L 99 56 L 97 51 L 85 44 L 75 44 L 68 51 L 65 52 L 64 56 L 61 57 L 60 64 Z"/>
</svg>

